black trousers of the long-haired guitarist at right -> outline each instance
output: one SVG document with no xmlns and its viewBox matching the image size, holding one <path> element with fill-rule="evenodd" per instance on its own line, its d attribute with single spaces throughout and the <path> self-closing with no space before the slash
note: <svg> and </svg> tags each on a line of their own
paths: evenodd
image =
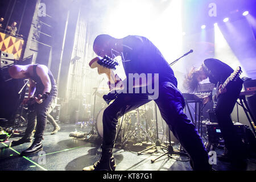
<svg viewBox="0 0 256 182">
<path fill-rule="evenodd" d="M 238 79 L 236 82 L 230 82 L 227 92 L 218 97 L 215 110 L 218 125 L 225 141 L 225 147 L 234 159 L 236 159 L 238 155 L 245 155 L 245 147 L 243 146 L 242 139 L 238 135 L 231 118 L 231 113 L 242 89 L 242 83 L 243 81 L 241 79 Z"/>
</svg>

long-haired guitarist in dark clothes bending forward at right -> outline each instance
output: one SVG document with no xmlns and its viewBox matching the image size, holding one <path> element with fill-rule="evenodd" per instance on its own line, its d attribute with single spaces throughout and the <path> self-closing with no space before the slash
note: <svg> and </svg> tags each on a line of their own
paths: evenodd
<svg viewBox="0 0 256 182">
<path fill-rule="evenodd" d="M 206 59 L 203 64 L 187 74 L 184 81 L 184 87 L 191 93 L 196 92 L 199 82 L 209 78 L 209 81 L 215 86 L 219 83 L 218 102 L 215 108 L 218 125 L 222 137 L 225 140 L 224 154 L 218 156 L 220 160 L 232 162 L 234 167 L 246 166 L 246 152 L 243 147 L 242 139 L 234 128 L 230 114 L 233 111 L 237 98 L 242 90 L 243 81 L 240 77 L 236 81 L 231 81 L 224 89 L 221 84 L 234 72 L 229 65 L 217 59 Z M 205 96 L 203 104 L 212 100 L 212 96 Z M 241 165 L 242 164 L 242 165 Z"/>
</svg>

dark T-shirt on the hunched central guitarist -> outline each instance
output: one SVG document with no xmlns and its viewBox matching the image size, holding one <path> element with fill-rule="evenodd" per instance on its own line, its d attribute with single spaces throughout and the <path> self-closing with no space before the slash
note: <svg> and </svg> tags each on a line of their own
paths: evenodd
<svg viewBox="0 0 256 182">
<path fill-rule="evenodd" d="M 159 49 L 143 36 L 129 35 L 123 38 L 122 64 L 128 79 L 129 73 L 159 74 L 159 84 L 164 81 L 177 86 L 174 71 Z"/>
</svg>

